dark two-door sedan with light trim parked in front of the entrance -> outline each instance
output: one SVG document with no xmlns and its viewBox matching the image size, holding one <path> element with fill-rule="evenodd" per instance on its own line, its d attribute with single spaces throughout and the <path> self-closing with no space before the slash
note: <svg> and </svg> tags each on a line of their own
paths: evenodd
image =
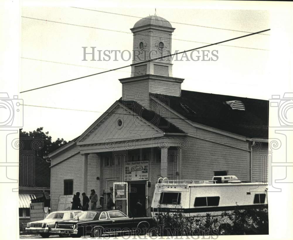
<svg viewBox="0 0 293 240">
<path fill-rule="evenodd" d="M 119 210 L 84 211 L 69 221 L 57 221 L 52 232 L 71 234 L 72 237 L 146 233 L 153 218 L 130 218 Z"/>
</svg>

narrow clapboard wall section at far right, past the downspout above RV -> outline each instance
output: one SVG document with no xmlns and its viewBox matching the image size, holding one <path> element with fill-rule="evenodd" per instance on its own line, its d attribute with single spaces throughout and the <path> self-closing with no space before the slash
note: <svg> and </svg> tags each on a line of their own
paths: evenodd
<svg viewBox="0 0 293 240">
<path fill-rule="evenodd" d="M 268 182 L 268 144 L 262 143 L 260 149 L 252 149 L 252 180 L 254 182 Z"/>
</svg>

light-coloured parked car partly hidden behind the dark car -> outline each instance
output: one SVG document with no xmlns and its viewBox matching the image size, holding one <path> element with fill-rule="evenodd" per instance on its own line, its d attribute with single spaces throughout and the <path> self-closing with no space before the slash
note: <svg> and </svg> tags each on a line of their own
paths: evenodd
<svg viewBox="0 0 293 240">
<path fill-rule="evenodd" d="M 40 221 L 28 222 L 26 232 L 40 233 L 41 237 L 47 238 L 52 234 L 51 229 L 54 228 L 56 221 L 70 220 L 77 216 L 81 210 L 56 211 L 50 213 L 45 219 Z M 69 234 L 60 233 L 60 237 L 66 237 Z"/>
</svg>

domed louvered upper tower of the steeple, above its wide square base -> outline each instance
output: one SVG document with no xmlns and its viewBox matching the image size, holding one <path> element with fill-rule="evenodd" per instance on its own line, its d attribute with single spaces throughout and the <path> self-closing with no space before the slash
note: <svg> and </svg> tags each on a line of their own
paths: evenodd
<svg viewBox="0 0 293 240">
<path fill-rule="evenodd" d="M 133 60 L 131 76 L 154 74 L 172 76 L 172 63 L 168 58 L 139 64 L 171 53 L 173 28 L 166 19 L 153 15 L 143 18 L 130 29 L 133 33 Z"/>
</svg>

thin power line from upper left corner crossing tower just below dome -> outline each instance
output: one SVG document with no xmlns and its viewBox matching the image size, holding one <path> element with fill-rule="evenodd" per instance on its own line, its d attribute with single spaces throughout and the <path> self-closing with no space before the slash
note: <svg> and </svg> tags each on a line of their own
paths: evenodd
<svg viewBox="0 0 293 240">
<path fill-rule="evenodd" d="M 22 18 L 33 19 L 33 20 L 45 21 L 45 22 L 60 23 L 60 24 L 71 25 L 71 26 L 76 26 L 76 27 L 87 27 L 87 28 L 93 28 L 93 29 L 98 29 L 98 30 L 105 30 L 105 31 L 110 31 L 110 32 L 119 32 L 119 33 L 132 34 L 131 32 L 124 32 L 124 31 L 107 29 L 107 28 L 84 26 L 84 25 L 72 24 L 72 23 L 67 23 L 67 22 L 58 22 L 58 21 L 46 20 L 46 19 L 41 19 L 41 18 L 30 18 L 30 17 L 25 17 L 25 16 L 21 16 L 21 17 Z M 139 33 L 137 35 L 148 36 L 146 34 L 139 34 Z M 162 39 L 169 39 L 167 37 L 161 37 L 161 38 Z M 194 43 L 203 43 L 203 44 L 210 44 L 210 43 L 206 43 L 206 42 L 198 42 L 198 41 L 192 41 L 192 40 L 186 40 L 186 39 L 178 39 L 178 38 L 172 38 L 172 40 L 185 41 L 185 42 L 194 42 Z M 262 48 L 249 48 L 249 47 L 231 46 L 231 45 L 224 45 L 224 44 L 219 44 L 219 45 L 220 46 L 226 46 L 226 47 L 234 47 L 234 48 L 248 48 L 248 49 L 269 51 L 268 49 L 262 49 Z"/>
</svg>

